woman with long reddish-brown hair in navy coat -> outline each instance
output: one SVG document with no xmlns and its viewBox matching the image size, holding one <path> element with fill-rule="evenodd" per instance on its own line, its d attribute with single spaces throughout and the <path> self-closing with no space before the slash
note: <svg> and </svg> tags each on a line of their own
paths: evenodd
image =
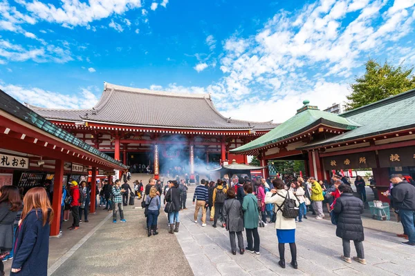
<svg viewBox="0 0 415 276">
<path fill-rule="evenodd" d="M 28 190 L 16 232 L 10 275 L 48 275 L 49 233 L 53 209 L 44 188 Z"/>
</svg>

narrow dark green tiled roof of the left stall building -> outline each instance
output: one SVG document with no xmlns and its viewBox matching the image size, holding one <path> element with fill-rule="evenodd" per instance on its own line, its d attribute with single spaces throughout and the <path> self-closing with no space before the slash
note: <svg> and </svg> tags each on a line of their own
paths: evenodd
<svg viewBox="0 0 415 276">
<path fill-rule="evenodd" d="M 113 165 L 120 166 L 122 168 L 128 168 L 120 161 L 117 161 L 109 155 L 100 152 L 100 150 L 94 148 L 93 146 L 89 146 L 89 144 L 86 144 L 81 139 L 71 135 L 71 133 L 62 130 L 62 128 L 55 126 L 55 124 L 50 123 L 50 121 L 46 120 L 44 117 L 38 115 L 36 112 L 33 112 L 23 104 L 19 103 L 19 101 L 16 101 L 2 90 L 0 90 L 0 109 L 8 112 L 14 117 L 26 121 L 26 123 L 35 126 L 40 130 L 48 132 L 50 135 L 53 135 L 59 139 L 62 139 L 63 141 L 68 142 L 69 144 L 72 144 L 77 148 L 82 148 L 83 150 L 86 150 L 87 152 L 97 157 L 105 159 Z"/>
</svg>

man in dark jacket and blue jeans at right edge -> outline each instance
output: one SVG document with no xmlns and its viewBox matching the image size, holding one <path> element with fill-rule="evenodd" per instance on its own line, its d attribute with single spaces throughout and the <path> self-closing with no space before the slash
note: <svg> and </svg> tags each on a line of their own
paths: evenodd
<svg viewBox="0 0 415 276">
<path fill-rule="evenodd" d="M 415 246 L 415 187 L 403 181 L 400 175 L 391 175 L 390 181 L 394 184 L 391 189 L 394 208 L 399 211 L 400 221 L 408 235 L 407 246 Z"/>
</svg>

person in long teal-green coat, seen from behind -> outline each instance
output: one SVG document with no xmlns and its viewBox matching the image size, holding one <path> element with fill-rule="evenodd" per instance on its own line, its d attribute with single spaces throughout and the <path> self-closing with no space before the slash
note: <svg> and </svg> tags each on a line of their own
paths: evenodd
<svg viewBox="0 0 415 276">
<path fill-rule="evenodd" d="M 258 201 L 257 197 L 252 194 L 252 185 L 243 184 L 243 190 L 246 196 L 243 197 L 243 226 L 246 230 L 246 241 L 248 247 L 246 250 L 250 253 L 256 253 L 259 255 L 259 234 L 258 234 L 258 223 L 259 223 L 259 212 L 258 212 Z M 253 237 L 253 242 L 252 242 Z"/>
</svg>

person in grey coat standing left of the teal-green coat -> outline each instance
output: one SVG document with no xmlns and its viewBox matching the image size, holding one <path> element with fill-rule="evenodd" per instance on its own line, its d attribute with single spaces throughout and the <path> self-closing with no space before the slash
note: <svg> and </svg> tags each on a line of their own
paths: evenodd
<svg viewBox="0 0 415 276">
<path fill-rule="evenodd" d="M 225 217 L 226 230 L 229 231 L 230 248 L 233 255 L 237 255 L 237 243 L 235 242 L 235 235 L 238 237 L 239 253 L 243 255 L 245 248 L 243 248 L 243 213 L 241 203 L 235 199 L 234 189 L 226 191 L 228 199 L 223 204 L 223 217 Z"/>
</svg>

